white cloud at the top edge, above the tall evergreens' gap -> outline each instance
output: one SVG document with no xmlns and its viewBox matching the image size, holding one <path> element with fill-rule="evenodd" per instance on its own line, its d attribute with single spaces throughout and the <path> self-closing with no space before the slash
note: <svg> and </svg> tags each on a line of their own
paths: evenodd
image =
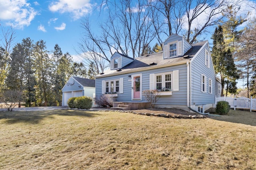
<svg viewBox="0 0 256 170">
<path fill-rule="evenodd" d="M 81 18 L 92 10 L 90 0 L 58 0 L 49 5 L 52 12 L 71 13 L 74 20 Z"/>
</svg>

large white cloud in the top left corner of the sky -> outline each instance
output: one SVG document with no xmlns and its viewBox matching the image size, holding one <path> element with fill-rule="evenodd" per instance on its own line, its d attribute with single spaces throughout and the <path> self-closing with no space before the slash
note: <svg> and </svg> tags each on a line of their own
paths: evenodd
<svg viewBox="0 0 256 170">
<path fill-rule="evenodd" d="M 23 28 L 30 25 L 38 13 L 26 0 L 0 0 L 0 20 L 8 25 Z"/>
</svg>

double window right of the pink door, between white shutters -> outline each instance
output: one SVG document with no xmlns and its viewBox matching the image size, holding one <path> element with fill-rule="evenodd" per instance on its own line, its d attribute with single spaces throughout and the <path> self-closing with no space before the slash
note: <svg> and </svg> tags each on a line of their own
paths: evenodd
<svg viewBox="0 0 256 170">
<path fill-rule="evenodd" d="M 172 89 L 172 74 L 156 74 L 156 90 Z"/>
</svg>

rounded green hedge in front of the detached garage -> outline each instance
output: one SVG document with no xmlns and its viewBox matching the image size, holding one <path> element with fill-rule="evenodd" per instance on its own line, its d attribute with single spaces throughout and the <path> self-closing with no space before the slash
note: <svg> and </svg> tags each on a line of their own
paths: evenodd
<svg viewBox="0 0 256 170">
<path fill-rule="evenodd" d="M 68 100 L 68 107 L 77 109 L 90 109 L 92 107 L 92 98 L 88 96 L 70 98 Z"/>
</svg>

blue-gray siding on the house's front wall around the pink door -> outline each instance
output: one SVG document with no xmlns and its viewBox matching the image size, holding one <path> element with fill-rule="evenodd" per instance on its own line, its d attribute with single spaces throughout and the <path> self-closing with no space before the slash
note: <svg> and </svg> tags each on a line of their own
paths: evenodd
<svg viewBox="0 0 256 170">
<path fill-rule="evenodd" d="M 150 74 L 158 74 L 163 72 L 171 72 L 173 70 L 179 70 L 179 91 L 172 92 L 171 96 L 162 96 L 156 104 L 161 105 L 186 105 L 187 103 L 187 67 L 186 64 L 169 66 L 165 68 L 157 68 L 154 70 L 145 70 L 140 72 L 133 72 L 129 74 L 122 74 L 111 77 L 96 78 L 96 96 L 102 95 L 102 80 L 115 80 L 118 78 L 124 78 L 124 93 L 118 94 L 116 101 L 118 102 L 135 102 L 132 101 L 132 82 L 128 81 L 128 75 L 142 74 L 142 91 L 149 90 Z M 136 102 L 147 102 L 142 95 L 142 101 Z"/>
</svg>

